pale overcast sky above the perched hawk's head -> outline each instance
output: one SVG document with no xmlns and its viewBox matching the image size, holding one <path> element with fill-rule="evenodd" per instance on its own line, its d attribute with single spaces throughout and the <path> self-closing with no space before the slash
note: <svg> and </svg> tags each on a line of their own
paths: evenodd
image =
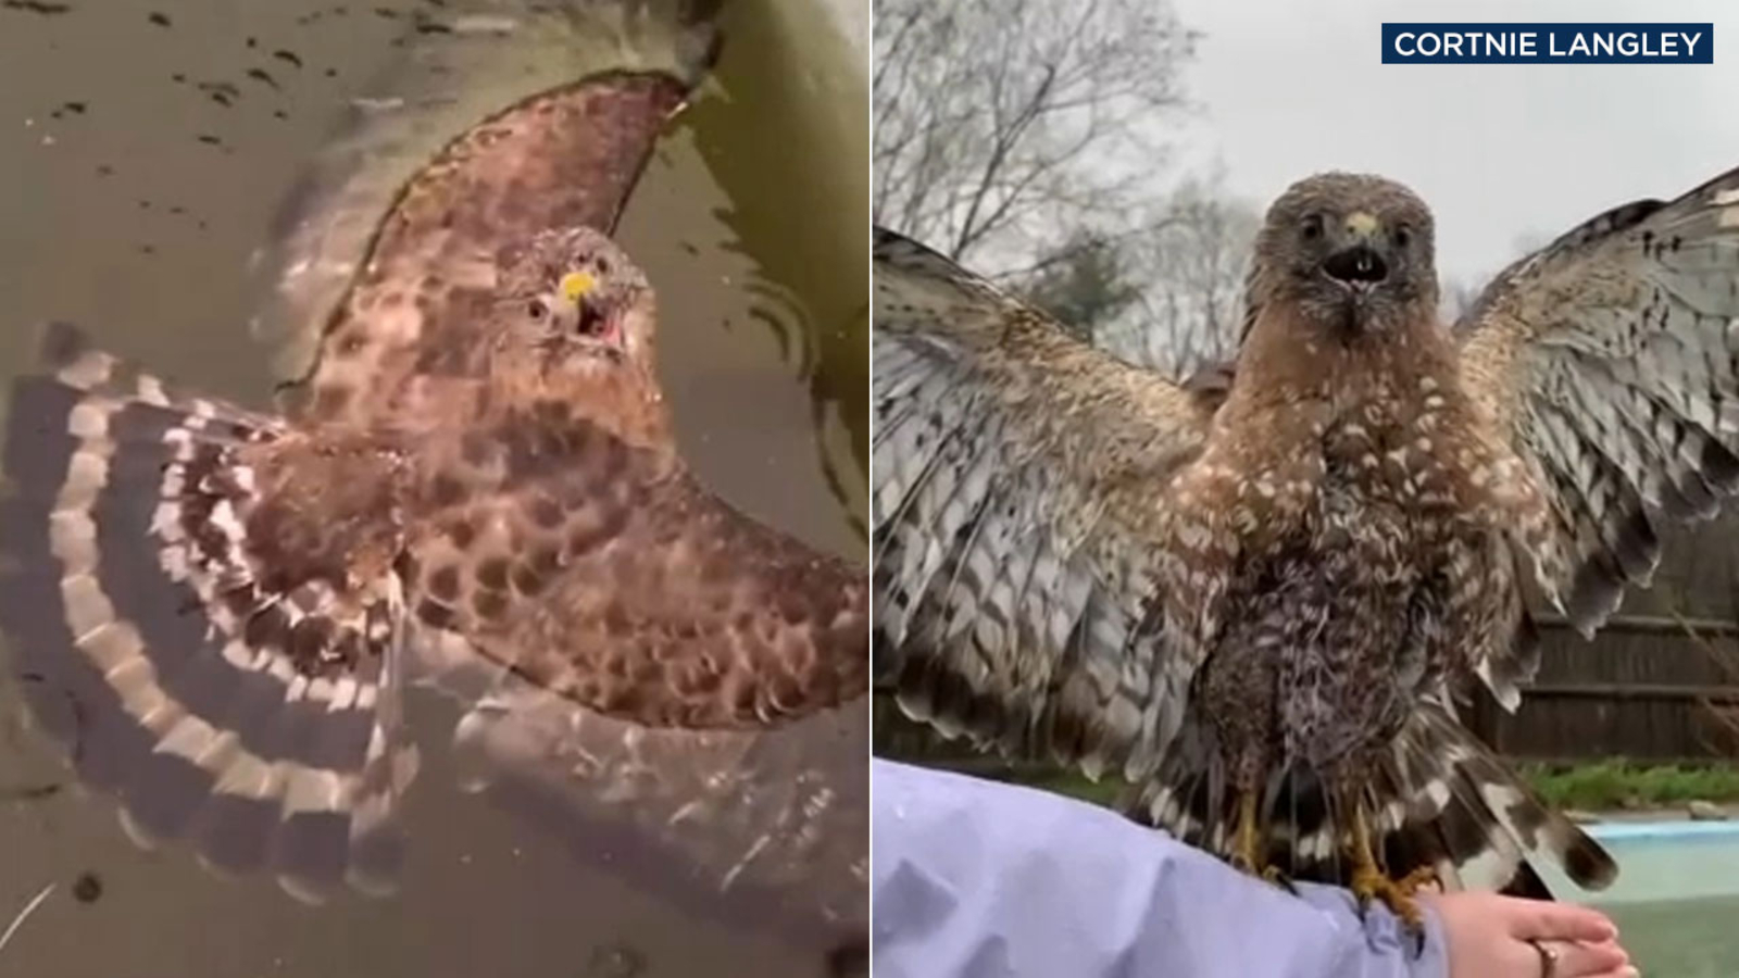
<svg viewBox="0 0 1739 978">
<path fill-rule="evenodd" d="M 1191 162 L 1263 207 L 1323 169 L 1396 178 L 1436 212 L 1443 275 L 1739 165 L 1732 0 L 1172 2 L 1207 33 Z M 1715 64 L 1383 64 L 1384 21 L 1713 23 Z"/>
</svg>

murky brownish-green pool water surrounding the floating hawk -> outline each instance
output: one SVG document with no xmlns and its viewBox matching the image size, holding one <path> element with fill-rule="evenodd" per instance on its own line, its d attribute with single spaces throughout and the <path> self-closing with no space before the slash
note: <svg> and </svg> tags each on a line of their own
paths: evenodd
<svg viewBox="0 0 1739 978">
<path fill-rule="evenodd" d="M 247 259 L 350 99 L 369 94 L 383 64 L 442 40 L 417 33 L 416 16 L 461 5 L 0 7 L 0 383 L 28 365 L 33 324 L 64 318 L 155 371 L 264 405 L 275 350 L 249 329 L 259 282 Z M 703 479 L 856 557 L 868 444 L 863 75 L 809 3 L 734 0 L 722 17 L 716 80 L 663 141 L 617 237 L 659 289 L 661 372 Z M 537 827 L 454 790 L 438 755 L 407 802 L 402 893 L 303 907 L 271 881 L 223 881 L 184 851 L 136 849 L 113 804 L 68 785 L 17 710 L 0 691 L 0 929 L 54 891 L 0 950 L 0 975 L 819 969 L 810 948 L 675 908 L 656 886 L 610 872 L 609 853 L 570 860 Z"/>
</svg>

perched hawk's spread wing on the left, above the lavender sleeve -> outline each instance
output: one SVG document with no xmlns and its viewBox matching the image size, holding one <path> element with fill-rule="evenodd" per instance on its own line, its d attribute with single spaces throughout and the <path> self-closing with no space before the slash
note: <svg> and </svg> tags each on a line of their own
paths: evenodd
<svg viewBox="0 0 1739 978">
<path fill-rule="evenodd" d="M 1195 663 L 1158 642 L 1146 531 L 1207 404 L 883 230 L 873 362 L 878 677 L 948 734 L 1149 767 Z"/>
</svg>

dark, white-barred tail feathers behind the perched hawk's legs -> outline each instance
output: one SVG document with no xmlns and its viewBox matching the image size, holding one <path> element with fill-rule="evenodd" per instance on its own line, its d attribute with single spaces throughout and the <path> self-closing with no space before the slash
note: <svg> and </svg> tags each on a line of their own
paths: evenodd
<svg viewBox="0 0 1739 978">
<path fill-rule="evenodd" d="M 1139 785 L 1129 811 L 1179 841 L 1221 858 L 1233 854 L 1236 797 L 1219 759 L 1184 736 L 1156 776 Z M 1303 764 L 1276 771 L 1263 813 L 1269 865 L 1292 879 L 1346 884 L 1348 813 Z M 1379 865 L 1393 879 L 1431 867 L 1445 889 L 1494 889 L 1549 900 L 1530 865 L 1548 858 L 1582 889 L 1603 889 L 1617 875 L 1612 856 L 1551 811 L 1471 733 L 1438 705 L 1426 703 L 1372 767 L 1363 807 Z"/>
</svg>

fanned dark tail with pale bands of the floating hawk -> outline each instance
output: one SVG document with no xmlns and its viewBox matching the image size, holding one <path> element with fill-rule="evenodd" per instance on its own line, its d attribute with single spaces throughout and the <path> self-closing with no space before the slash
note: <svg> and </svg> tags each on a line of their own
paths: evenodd
<svg viewBox="0 0 1739 978">
<path fill-rule="evenodd" d="M 304 900 L 386 889 L 414 767 L 395 623 L 254 579 L 238 454 L 280 432 L 49 327 L 0 454 L 0 632 L 38 726 L 137 842 L 188 839 Z M 355 668 L 297 668 L 332 661 Z"/>
</svg>

